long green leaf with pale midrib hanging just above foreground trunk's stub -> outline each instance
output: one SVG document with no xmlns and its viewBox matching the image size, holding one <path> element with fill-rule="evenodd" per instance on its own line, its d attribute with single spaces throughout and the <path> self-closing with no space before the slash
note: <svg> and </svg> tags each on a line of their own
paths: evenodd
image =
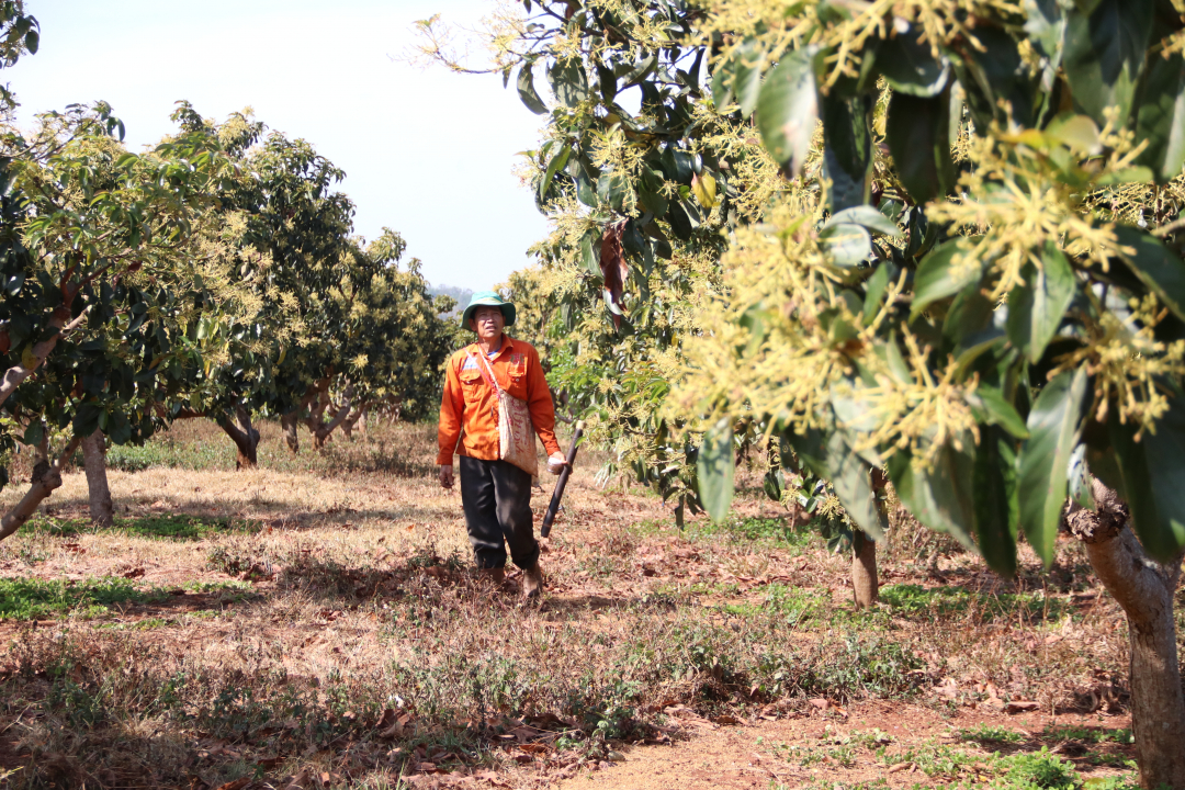
<svg viewBox="0 0 1185 790">
<path fill-rule="evenodd" d="M 1029 412 L 1029 438 L 1017 458 L 1020 527 L 1046 567 L 1053 561 L 1085 391 L 1084 368 L 1061 373 L 1046 384 Z"/>
</svg>

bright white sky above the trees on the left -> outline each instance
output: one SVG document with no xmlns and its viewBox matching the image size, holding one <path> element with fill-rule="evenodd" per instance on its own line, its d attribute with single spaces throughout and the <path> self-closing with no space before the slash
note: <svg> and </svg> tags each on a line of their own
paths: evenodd
<svg viewBox="0 0 1185 790">
<path fill-rule="evenodd" d="M 0 71 L 18 118 L 103 99 L 133 150 L 172 131 L 173 103 L 303 137 L 346 172 L 367 239 L 386 225 L 433 283 L 492 288 L 547 225 L 512 169 L 543 117 L 512 82 L 391 57 L 434 13 L 474 27 L 494 0 L 26 0 L 40 51 Z M 481 56 L 474 47 L 476 56 Z M 483 63 L 478 60 L 478 63 Z M 542 88 L 542 85 L 540 85 Z"/>
</svg>

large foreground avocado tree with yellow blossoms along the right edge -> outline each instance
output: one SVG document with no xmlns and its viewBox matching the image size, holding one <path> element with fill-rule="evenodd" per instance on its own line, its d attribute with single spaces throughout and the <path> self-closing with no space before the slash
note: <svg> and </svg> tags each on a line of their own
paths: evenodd
<svg viewBox="0 0 1185 790">
<path fill-rule="evenodd" d="M 761 72 L 766 147 L 794 175 L 816 144 L 824 190 L 738 229 L 672 399 L 722 418 L 705 449 L 767 419 L 870 533 L 884 469 L 1005 574 L 1021 533 L 1052 560 L 1072 501 L 1148 788 L 1185 786 L 1183 28 L 1154 0 L 718 4 L 717 105 Z"/>
</svg>

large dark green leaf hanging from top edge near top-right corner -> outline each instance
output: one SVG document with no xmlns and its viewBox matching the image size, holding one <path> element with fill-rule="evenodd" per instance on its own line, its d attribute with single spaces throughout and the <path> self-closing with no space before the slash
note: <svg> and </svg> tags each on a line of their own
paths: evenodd
<svg viewBox="0 0 1185 790">
<path fill-rule="evenodd" d="M 1089 14 L 1066 12 L 1063 66 L 1074 102 L 1100 126 L 1104 110 L 1119 108 L 1121 123 L 1132 111 L 1152 33 L 1152 0 L 1098 0 Z"/>
</svg>

